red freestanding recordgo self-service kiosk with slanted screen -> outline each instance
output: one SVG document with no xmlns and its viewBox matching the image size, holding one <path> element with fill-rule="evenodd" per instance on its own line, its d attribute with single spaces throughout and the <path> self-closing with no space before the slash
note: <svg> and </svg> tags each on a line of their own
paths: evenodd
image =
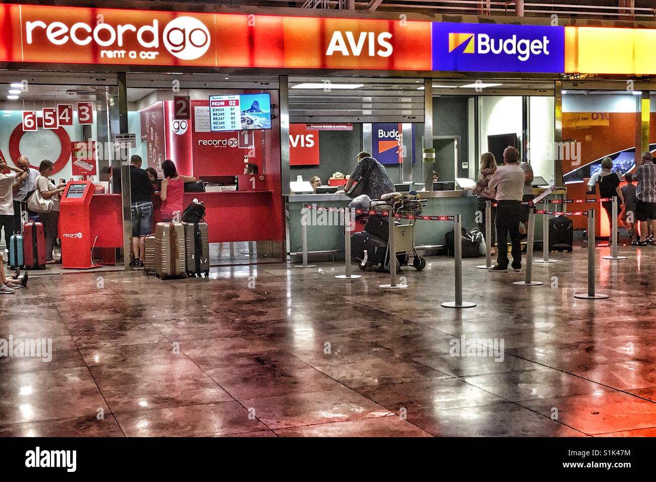
<svg viewBox="0 0 656 482">
<path fill-rule="evenodd" d="M 62 239 L 62 268 L 99 268 L 91 261 L 89 205 L 94 185 L 91 181 L 70 181 L 59 203 L 59 230 Z"/>
</svg>

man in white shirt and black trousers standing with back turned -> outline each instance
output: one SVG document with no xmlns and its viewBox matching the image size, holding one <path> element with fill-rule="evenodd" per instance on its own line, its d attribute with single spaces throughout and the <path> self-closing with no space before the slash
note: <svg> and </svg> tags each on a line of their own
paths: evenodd
<svg viewBox="0 0 656 482">
<path fill-rule="evenodd" d="M 520 167 L 520 153 L 512 147 L 503 151 L 503 165 L 492 174 L 487 187 L 496 190 L 497 265 L 491 271 L 508 271 L 508 234 L 512 244 L 512 268 L 522 269 L 522 242 L 520 235 L 521 201 L 526 174 Z"/>
</svg>

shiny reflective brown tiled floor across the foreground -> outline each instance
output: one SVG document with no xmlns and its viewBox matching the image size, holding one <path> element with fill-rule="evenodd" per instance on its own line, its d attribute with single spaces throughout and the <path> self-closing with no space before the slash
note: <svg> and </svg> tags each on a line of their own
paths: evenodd
<svg viewBox="0 0 656 482">
<path fill-rule="evenodd" d="M 440 307 L 447 258 L 395 291 L 342 264 L 35 277 L 0 298 L 0 338 L 51 338 L 52 361 L 0 357 L 0 435 L 656 436 L 656 247 L 621 252 L 598 301 L 573 297 L 581 249 L 540 287 L 464 260 L 470 310 Z"/>
</svg>

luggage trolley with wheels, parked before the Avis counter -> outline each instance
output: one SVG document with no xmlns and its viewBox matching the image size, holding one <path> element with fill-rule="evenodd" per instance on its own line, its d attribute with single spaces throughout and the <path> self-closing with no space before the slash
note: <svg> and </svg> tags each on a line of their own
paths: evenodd
<svg viewBox="0 0 656 482">
<path fill-rule="evenodd" d="M 395 197 L 392 201 L 393 205 L 377 205 L 373 211 L 389 211 L 393 209 L 397 214 L 419 216 L 422 213 L 422 209 L 426 204 L 425 200 L 419 198 L 418 195 L 411 194 L 401 194 L 398 197 Z M 387 220 L 384 220 L 387 223 Z M 417 249 L 415 248 L 415 220 L 405 220 L 400 219 L 394 223 L 394 251 L 396 254 L 396 259 L 399 264 L 407 265 L 409 264 L 409 258 L 412 256 L 413 267 L 417 271 L 421 271 L 426 267 L 426 260 L 423 256 L 419 256 Z M 352 245 L 353 246 L 353 245 Z M 390 267 L 390 245 L 386 243 L 385 247 L 385 256 L 383 262 L 379 263 L 380 270 L 388 270 Z M 361 256 L 358 253 L 354 252 L 354 258 L 360 260 L 358 266 L 361 270 L 365 270 L 367 266 L 371 266 L 373 262 L 369 258 L 369 251 L 363 251 Z M 400 268 L 399 268 L 400 269 Z"/>
</svg>

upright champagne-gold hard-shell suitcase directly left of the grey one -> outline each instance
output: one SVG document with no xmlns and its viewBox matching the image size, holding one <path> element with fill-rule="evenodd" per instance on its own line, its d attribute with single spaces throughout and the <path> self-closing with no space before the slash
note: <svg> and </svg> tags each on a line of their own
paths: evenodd
<svg viewBox="0 0 656 482">
<path fill-rule="evenodd" d="M 162 279 L 187 275 L 181 222 L 158 222 L 155 225 L 155 275 Z"/>
</svg>

